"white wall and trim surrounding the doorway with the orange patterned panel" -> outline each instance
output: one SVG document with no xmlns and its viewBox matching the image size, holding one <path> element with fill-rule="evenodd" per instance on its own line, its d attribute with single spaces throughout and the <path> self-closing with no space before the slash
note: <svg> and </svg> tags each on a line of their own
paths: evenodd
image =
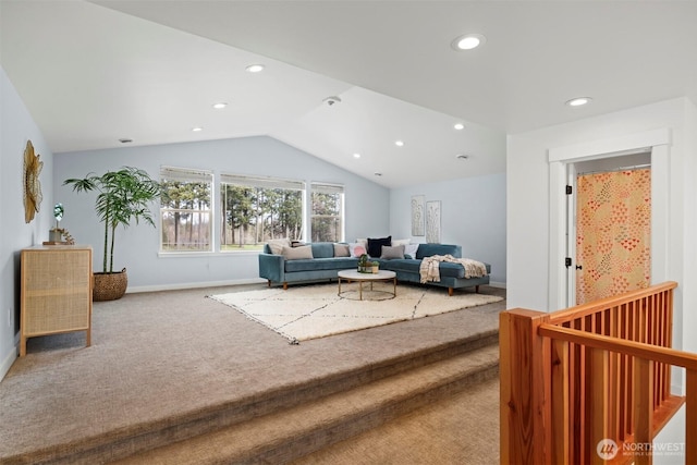
<svg viewBox="0 0 697 465">
<path fill-rule="evenodd" d="M 549 150 L 663 129 L 672 137 L 668 147 L 668 179 L 662 182 L 668 195 L 668 237 L 665 252 L 653 250 L 652 259 L 664 261 L 667 279 L 678 283 L 674 301 L 674 347 L 697 353 L 697 339 L 692 334 L 697 325 L 694 244 L 697 236 L 697 108 L 685 98 L 509 136 L 509 308 L 555 309 L 548 298 L 550 276 L 558 271 L 550 269 L 549 264 L 552 195 L 549 192 Z M 563 267 L 563 264 L 559 266 Z M 681 382 L 681 377 L 674 379 Z M 684 426 L 676 429 L 684 431 Z M 680 441 L 680 437 L 669 433 L 663 440 Z"/>
</svg>

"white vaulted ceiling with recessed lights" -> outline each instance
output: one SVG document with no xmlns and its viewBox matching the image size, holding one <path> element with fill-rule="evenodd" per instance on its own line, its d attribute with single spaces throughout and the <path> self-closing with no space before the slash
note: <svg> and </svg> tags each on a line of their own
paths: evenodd
<svg viewBox="0 0 697 465">
<path fill-rule="evenodd" d="M 270 135 L 398 187 L 503 172 L 506 133 L 697 101 L 696 24 L 670 0 L 0 0 L 0 61 L 56 152 Z"/>
</svg>

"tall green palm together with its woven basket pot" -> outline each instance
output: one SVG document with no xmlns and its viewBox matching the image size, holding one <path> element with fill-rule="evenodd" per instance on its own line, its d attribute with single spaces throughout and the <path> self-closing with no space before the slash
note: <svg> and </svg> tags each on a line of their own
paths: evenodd
<svg viewBox="0 0 697 465">
<path fill-rule="evenodd" d="M 72 185 L 74 192 L 97 191 L 95 211 L 105 224 L 103 266 L 95 272 L 93 299 L 113 301 L 126 292 L 126 269 L 113 271 L 114 232 L 117 227 L 127 228 L 132 221 L 143 220 L 155 227 L 149 204 L 160 197 L 162 188 L 140 169 L 123 167 L 102 175 L 88 173 L 83 179 L 69 179 L 63 185 Z"/>
</svg>

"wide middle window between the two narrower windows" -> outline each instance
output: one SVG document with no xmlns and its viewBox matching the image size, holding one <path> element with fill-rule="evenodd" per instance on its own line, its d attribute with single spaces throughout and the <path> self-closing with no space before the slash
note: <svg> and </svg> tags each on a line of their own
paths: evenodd
<svg viewBox="0 0 697 465">
<path fill-rule="evenodd" d="M 220 175 L 221 250 L 260 250 L 270 238 L 303 236 L 305 183 Z"/>
</svg>

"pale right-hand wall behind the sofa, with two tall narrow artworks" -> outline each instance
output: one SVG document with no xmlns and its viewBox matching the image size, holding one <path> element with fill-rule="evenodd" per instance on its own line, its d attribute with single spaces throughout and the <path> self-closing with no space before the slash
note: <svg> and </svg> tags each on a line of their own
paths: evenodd
<svg viewBox="0 0 697 465">
<path fill-rule="evenodd" d="M 390 232 L 393 238 L 412 236 L 412 196 L 441 201 L 441 243 L 462 245 L 464 257 L 491 265 L 491 282 L 506 283 L 505 173 L 420 184 L 390 192 Z"/>
</svg>

